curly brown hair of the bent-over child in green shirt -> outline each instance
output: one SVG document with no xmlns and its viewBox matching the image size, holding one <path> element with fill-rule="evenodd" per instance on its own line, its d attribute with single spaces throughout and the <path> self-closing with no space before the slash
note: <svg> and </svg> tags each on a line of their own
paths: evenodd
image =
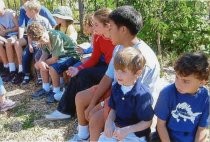
<svg viewBox="0 0 210 142">
<path fill-rule="evenodd" d="M 31 23 L 27 28 L 27 35 L 32 41 L 38 41 L 41 39 L 43 33 L 46 31 L 45 27 L 38 22 Z"/>
</svg>

